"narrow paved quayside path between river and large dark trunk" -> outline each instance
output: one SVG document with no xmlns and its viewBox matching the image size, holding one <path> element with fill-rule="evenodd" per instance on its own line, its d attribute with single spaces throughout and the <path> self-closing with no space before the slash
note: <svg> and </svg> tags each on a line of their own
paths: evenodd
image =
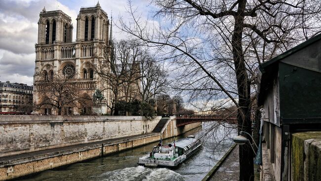
<svg viewBox="0 0 321 181">
<path fill-rule="evenodd" d="M 235 146 L 210 181 L 239 181 L 239 145 Z"/>
</svg>

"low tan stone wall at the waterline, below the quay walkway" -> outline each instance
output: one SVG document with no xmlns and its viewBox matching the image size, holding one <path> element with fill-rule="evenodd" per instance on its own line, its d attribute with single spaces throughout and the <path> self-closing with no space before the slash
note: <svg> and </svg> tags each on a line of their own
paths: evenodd
<svg viewBox="0 0 321 181">
<path fill-rule="evenodd" d="M 136 146 L 153 143 L 158 140 L 160 140 L 159 133 L 146 134 L 104 144 L 89 144 L 78 148 L 62 149 L 40 155 L 6 160 L 0 164 L 0 181 L 15 179 L 44 170 L 100 157 Z"/>
</svg>

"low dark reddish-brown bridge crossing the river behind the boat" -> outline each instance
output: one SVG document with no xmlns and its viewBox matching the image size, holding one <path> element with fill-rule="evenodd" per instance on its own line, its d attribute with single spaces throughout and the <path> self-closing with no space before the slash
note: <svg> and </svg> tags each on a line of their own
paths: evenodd
<svg viewBox="0 0 321 181">
<path fill-rule="evenodd" d="M 195 122 L 204 122 L 204 121 L 219 121 L 219 122 L 228 122 L 231 124 L 237 123 L 236 117 L 224 117 L 221 115 L 214 116 L 177 116 L 176 115 L 176 127 L 181 127 L 187 124 L 195 123 Z"/>
</svg>

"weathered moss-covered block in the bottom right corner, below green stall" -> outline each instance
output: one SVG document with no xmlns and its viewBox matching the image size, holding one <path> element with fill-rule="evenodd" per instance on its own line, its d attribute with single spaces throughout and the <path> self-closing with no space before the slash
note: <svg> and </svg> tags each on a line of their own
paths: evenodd
<svg viewBox="0 0 321 181">
<path fill-rule="evenodd" d="M 292 134 L 292 181 L 321 181 L 321 131 Z"/>
</svg>

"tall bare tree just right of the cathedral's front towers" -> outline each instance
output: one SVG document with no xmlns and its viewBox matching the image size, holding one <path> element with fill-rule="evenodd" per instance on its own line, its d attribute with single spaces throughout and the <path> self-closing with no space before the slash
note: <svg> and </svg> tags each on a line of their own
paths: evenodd
<svg viewBox="0 0 321 181">
<path fill-rule="evenodd" d="M 134 40 L 113 41 L 111 47 L 105 46 L 102 50 L 104 59 L 99 60 L 93 69 L 104 82 L 104 88 L 112 92 L 107 106 L 112 115 L 118 115 L 116 105 L 120 100 L 129 102 L 137 98 L 142 52 Z"/>
</svg>

